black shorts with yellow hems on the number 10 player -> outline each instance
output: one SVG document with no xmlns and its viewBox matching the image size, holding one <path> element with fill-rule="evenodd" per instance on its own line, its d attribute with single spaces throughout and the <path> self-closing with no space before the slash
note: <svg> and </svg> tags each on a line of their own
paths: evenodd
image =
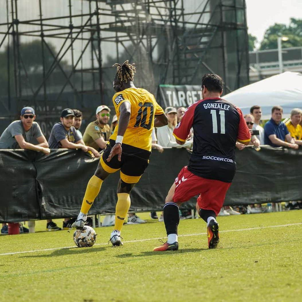
<svg viewBox="0 0 302 302">
<path fill-rule="evenodd" d="M 101 166 L 108 173 L 114 173 L 117 170 L 120 170 L 120 178 L 123 182 L 128 184 L 137 183 L 149 165 L 149 156 L 151 152 L 127 144 L 122 144 L 120 162 L 117 159 L 117 155 L 114 156 L 110 162 L 107 162 L 114 145 L 115 140 L 109 140 L 109 144 L 100 159 Z"/>
</svg>

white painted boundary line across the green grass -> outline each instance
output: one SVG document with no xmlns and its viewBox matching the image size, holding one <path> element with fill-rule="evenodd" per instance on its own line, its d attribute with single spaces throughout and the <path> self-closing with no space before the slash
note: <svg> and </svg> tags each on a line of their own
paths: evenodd
<svg viewBox="0 0 302 302">
<path fill-rule="evenodd" d="M 259 227 L 251 227 L 247 229 L 239 229 L 239 230 L 226 230 L 226 231 L 220 231 L 220 233 L 230 233 L 230 232 L 243 232 L 243 231 L 251 231 L 251 230 L 261 230 L 261 229 L 268 229 L 268 228 L 274 228 L 274 227 L 283 227 L 283 226 L 296 226 L 300 225 L 302 222 L 299 223 L 289 223 L 289 224 L 280 224 L 276 226 L 259 226 Z M 187 236 L 199 236 L 199 235 L 206 235 L 207 233 L 196 233 L 196 234 L 186 234 L 186 235 L 178 235 L 178 237 L 187 237 Z M 123 243 L 133 243 L 133 242 L 142 242 L 142 241 L 150 241 L 150 240 L 158 240 L 160 238 L 147 238 L 147 239 L 138 239 L 138 240 L 129 240 L 129 241 L 123 241 Z M 107 245 L 108 243 L 95 243 L 94 246 L 97 245 Z M 24 254 L 24 253 L 34 253 L 34 252 L 47 252 L 47 251 L 54 251 L 57 249 L 72 249 L 75 248 L 75 246 L 65 246 L 65 247 L 56 247 L 52 249 L 35 249 L 32 251 L 23 251 L 23 252 L 10 252 L 10 253 L 3 253 L 0 254 L 0 256 L 6 256 L 6 255 L 16 255 L 16 254 Z"/>
</svg>

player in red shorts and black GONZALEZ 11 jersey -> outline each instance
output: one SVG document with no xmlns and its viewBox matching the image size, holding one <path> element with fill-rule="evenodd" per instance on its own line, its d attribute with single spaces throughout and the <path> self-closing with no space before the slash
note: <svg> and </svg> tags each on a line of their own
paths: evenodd
<svg viewBox="0 0 302 302">
<path fill-rule="evenodd" d="M 188 107 L 173 131 L 176 142 L 182 145 L 193 127 L 193 152 L 188 166 L 180 171 L 165 199 L 168 241 L 153 251 L 178 249 L 179 206 L 198 194 L 196 209 L 207 223 L 209 249 L 217 247 L 216 216 L 235 175 L 236 141 L 248 145 L 251 139 L 242 111 L 220 98 L 223 90 L 220 76 L 205 74 L 201 85 L 203 99 Z"/>
</svg>

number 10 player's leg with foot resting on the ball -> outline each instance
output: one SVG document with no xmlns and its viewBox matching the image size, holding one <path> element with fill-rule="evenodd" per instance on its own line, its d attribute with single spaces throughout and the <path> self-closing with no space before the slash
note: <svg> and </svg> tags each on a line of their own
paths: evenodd
<svg viewBox="0 0 302 302">
<path fill-rule="evenodd" d="M 89 182 L 86 187 L 85 195 L 82 201 L 82 207 L 80 213 L 76 221 L 72 224 L 72 227 L 75 227 L 80 230 L 84 228 L 87 219 L 87 213 L 90 210 L 95 198 L 98 196 L 103 181 L 110 174 L 110 172 L 107 172 L 103 169 L 101 165 L 102 160 L 103 159 L 101 157 L 101 160 L 98 164 L 98 168 L 96 169 L 95 174 L 92 176 L 92 178 L 89 179 Z"/>
</svg>

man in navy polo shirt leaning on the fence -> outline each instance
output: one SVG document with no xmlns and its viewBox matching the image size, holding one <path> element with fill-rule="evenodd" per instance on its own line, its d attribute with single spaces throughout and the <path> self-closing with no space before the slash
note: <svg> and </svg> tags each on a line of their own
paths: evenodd
<svg viewBox="0 0 302 302">
<path fill-rule="evenodd" d="M 286 125 L 281 122 L 283 109 L 281 106 L 271 108 L 271 119 L 264 126 L 264 143 L 272 147 L 288 147 L 298 149 Z"/>
</svg>

